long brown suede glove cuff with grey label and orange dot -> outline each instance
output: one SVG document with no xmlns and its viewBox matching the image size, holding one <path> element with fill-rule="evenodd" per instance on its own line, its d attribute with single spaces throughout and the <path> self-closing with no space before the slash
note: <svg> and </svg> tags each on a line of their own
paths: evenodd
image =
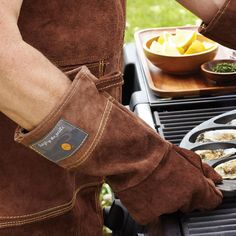
<svg viewBox="0 0 236 236">
<path fill-rule="evenodd" d="M 82 67 L 48 117 L 28 133 L 19 127 L 15 140 L 63 168 L 110 176 L 121 191 L 146 178 L 171 145 L 102 92 L 97 81 Z"/>
</svg>

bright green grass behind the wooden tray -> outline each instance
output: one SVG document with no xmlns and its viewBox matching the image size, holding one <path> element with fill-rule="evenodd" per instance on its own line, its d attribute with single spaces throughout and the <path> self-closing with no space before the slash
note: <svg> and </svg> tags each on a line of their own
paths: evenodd
<svg viewBox="0 0 236 236">
<path fill-rule="evenodd" d="M 125 42 L 143 28 L 194 25 L 199 19 L 174 0 L 127 0 Z"/>
</svg>

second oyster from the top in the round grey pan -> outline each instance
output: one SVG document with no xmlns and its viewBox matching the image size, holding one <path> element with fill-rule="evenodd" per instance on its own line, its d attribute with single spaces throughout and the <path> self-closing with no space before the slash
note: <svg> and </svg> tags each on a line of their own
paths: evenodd
<svg viewBox="0 0 236 236">
<path fill-rule="evenodd" d="M 203 132 L 197 136 L 196 142 L 226 142 L 236 140 L 235 129 L 219 129 Z"/>
</svg>

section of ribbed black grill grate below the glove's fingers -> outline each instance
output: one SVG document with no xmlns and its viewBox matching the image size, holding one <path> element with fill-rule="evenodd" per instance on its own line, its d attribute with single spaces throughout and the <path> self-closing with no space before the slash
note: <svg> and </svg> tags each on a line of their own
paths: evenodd
<svg viewBox="0 0 236 236">
<path fill-rule="evenodd" d="M 235 236 L 235 199 L 225 199 L 223 204 L 214 211 L 185 215 L 181 221 L 185 236 Z"/>
</svg>

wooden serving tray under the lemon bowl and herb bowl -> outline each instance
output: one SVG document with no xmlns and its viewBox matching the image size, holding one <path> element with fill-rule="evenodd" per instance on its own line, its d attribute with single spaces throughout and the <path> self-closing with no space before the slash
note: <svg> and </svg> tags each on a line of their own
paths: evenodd
<svg viewBox="0 0 236 236">
<path fill-rule="evenodd" d="M 196 30 L 197 27 L 178 27 Z M 188 75 L 172 75 L 154 66 L 145 56 L 143 43 L 151 37 L 160 35 L 163 31 L 175 33 L 176 27 L 150 28 L 135 33 L 135 43 L 138 57 L 141 61 L 145 77 L 150 89 L 159 97 L 186 97 L 201 95 L 229 94 L 236 91 L 235 85 L 214 85 L 208 82 L 200 72 Z M 219 45 L 217 59 L 229 59 L 230 49 Z"/>
</svg>

